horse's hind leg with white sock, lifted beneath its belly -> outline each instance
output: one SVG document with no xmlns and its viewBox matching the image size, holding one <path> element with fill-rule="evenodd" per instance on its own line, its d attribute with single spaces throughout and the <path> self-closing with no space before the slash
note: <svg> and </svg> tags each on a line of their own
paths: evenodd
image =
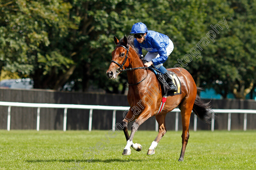
<svg viewBox="0 0 256 170">
<path fill-rule="evenodd" d="M 162 114 L 162 115 L 155 116 L 155 119 L 158 123 L 158 135 L 155 138 L 155 140 L 152 142 L 151 146 L 149 147 L 147 155 L 155 154 L 155 148 L 156 148 L 158 142 L 162 139 L 162 137 L 166 133 L 165 116 L 166 116 L 166 113 Z"/>
</svg>

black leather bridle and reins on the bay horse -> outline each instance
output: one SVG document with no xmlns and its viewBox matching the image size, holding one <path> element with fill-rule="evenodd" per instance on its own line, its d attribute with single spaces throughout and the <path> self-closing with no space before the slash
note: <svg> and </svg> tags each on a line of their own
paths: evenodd
<svg viewBox="0 0 256 170">
<path fill-rule="evenodd" d="M 119 68 L 116 69 L 116 72 L 120 73 L 121 71 L 136 70 L 136 69 L 148 69 L 148 67 L 137 67 L 137 68 L 126 68 L 126 69 L 123 69 L 123 66 L 124 66 L 124 64 L 126 63 L 128 56 L 130 57 L 130 55 L 129 55 L 129 53 L 128 53 L 130 46 L 128 45 L 128 48 L 126 48 L 126 47 L 123 46 L 123 45 L 116 45 L 116 47 L 117 47 L 117 46 L 120 46 L 120 47 L 123 47 L 124 49 L 126 49 L 126 55 L 125 55 L 125 58 L 124 58 L 122 64 L 119 64 L 118 62 L 116 62 L 116 61 L 114 61 L 114 60 L 111 61 L 111 62 L 113 62 L 113 63 L 115 63 L 115 64 L 117 64 L 117 65 L 119 66 Z M 131 58 L 131 57 L 130 57 L 130 58 Z M 129 65 L 130 65 L 130 59 L 128 59 L 128 60 L 129 60 Z M 121 70 L 121 69 L 122 69 L 122 70 Z M 147 76 L 146 76 L 143 80 L 145 80 L 147 77 L 148 77 L 148 71 L 147 71 Z M 142 82 L 143 80 L 141 80 L 140 82 Z M 129 84 L 129 83 L 128 83 L 128 85 L 137 85 L 137 84 L 140 84 L 140 82 L 137 82 L 137 83 L 135 83 L 135 84 Z"/>
</svg>

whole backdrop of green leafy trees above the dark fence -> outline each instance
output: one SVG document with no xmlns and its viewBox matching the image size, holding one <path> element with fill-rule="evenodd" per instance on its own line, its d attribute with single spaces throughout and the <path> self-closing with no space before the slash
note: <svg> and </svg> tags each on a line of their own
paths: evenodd
<svg viewBox="0 0 256 170">
<path fill-rule="evenodd" d="M 170 37 L 174 50 L 164 66 L 180 64 L 197 86 L 224 98 L 229 92 L 245 98 L 255 87 L 255 0 L 1 0 L 0 7 L 0 68 L 33 78 L 35 88 L 74 82 L 75 90 L 123 93 L 126 74 L 111 81 L 105 72 L 113 36 L 128 35 L 137 22 Z M 223 17 L 228 28 L 219 23 Z M 215 24 L 222 29 L 216 27 L 213 42 L 206 34 Z M 199 49 L 203 37 L 210 42 Z M 193 48 L 200 57 L 190 54 Z"/>
</svg>

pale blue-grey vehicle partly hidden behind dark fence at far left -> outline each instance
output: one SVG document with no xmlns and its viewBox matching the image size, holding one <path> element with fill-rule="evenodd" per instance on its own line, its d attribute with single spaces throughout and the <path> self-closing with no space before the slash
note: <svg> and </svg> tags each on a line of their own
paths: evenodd
<svg viewBox="0 0 256 170">
<path fill-rule="evenodd" d="M 34 81 L 30 78 L 2 80 L 0 87 L 30 89 L 34 87 Z"/>
</svg>

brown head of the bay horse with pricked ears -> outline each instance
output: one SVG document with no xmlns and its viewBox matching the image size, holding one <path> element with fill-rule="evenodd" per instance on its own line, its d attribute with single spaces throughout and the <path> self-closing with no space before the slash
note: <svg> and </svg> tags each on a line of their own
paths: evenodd
<svg viewBox="0 0 256 170">
<path fill-rule="evenodd" d="M 116 48 L 112 51 L 112 61 L 107 70 L 108 79 L 116 79 L 121 73 L 121 70 L 127 68 L 130 65 L 129 56 L 129 44 L 126 36 L 124 36 L 123 41 L 119 42 L 116 36 L 114 36 L 114 41 L 116 43 Z M 128 58 L 128 60 L 127 60 Z"/>
</svg>

